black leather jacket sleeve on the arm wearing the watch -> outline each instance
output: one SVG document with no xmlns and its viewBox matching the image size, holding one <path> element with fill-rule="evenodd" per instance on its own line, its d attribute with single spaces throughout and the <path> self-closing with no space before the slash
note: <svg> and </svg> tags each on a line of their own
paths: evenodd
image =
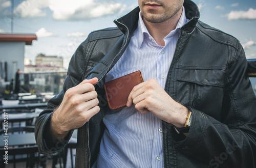
<svg viewBox="0 0 256 168">
<path fill-rule="evenodd" d="M 230 58 L 228 68 L 221 122 L 190 108 L 191 126 L 177 149 L 210 167 L 255 167 L 256 97 L 247 77 L 247 60 L 241 44 L 237 55 Z"/>
</svg>

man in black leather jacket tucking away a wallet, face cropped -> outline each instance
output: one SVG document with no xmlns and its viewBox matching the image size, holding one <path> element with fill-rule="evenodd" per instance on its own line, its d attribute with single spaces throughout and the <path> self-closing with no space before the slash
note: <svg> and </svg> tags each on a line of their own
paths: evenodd
<svg viewBox="0 0 256 168">
<path fill-rule="evenodd" d="M 138 3 L 78 47 L 36 122 L 39 150 L 60 151 L 79 128 L 77 167 L 255 166 L 256 98 L 241 44 L 199 21 L 192 1 Z M 137 70 L 144 82 L 111 110 L 103 83 Z"/>
</svg>

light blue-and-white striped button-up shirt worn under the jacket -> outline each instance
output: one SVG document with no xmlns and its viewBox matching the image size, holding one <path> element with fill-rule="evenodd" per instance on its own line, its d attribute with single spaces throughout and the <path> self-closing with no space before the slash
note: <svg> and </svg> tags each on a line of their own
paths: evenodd
<svg viewBox="0 0 256 168">
<path fill-rule="evenodd" d="M 167 73 L 179 38 L 188 20 L 185 11 L 174 31 L 159 46 L 139 15 L 138 28 L 122 57 L 105 76 L 105 82 L 140 70 L 144 81 L 154 78 L 165 87 Z M 93 167 L 163 167 L 162 123 L 152 113 L 140 114 L 132 105 L 103 118 L 106 126 L 100 153 Z"/>
</svg>

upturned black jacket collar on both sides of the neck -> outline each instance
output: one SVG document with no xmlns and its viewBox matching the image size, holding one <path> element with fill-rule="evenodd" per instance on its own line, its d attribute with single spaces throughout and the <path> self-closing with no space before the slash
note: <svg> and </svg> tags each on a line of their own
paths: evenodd
<svg viewBox="0 0 256 168">
<path fill-rule="evenodd" d="M 186 18 L 190 21 L 181 29 L 189 33 L 195 29 L 197 21 L 200 17 L 200 12 L 198 6 L 193 1 L 185 0 L 183 6 L 185 8 Z M 123 32 L 125 36 L 131 35 L 137 29 L 139 12 L 140 8 L 137 7 L 123 17 L 114 20 L 114 23 L 116 23 L 118 28 Z"/>
</svg>

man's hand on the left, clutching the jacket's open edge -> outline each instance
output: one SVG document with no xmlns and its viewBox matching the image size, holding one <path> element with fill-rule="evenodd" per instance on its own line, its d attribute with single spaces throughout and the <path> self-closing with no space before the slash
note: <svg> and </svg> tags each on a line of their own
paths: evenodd
<svg viewBox="0 0 256 168">
<path fill-rule="evenodd" d="M 51 118 L 53 136 L 65 137 L 71 129 L 83 126 L 99 112 L 99 100 L 93 86 L 97 81 L 97 78 L 86 79 L 67 90 Z"/>
</svg>

